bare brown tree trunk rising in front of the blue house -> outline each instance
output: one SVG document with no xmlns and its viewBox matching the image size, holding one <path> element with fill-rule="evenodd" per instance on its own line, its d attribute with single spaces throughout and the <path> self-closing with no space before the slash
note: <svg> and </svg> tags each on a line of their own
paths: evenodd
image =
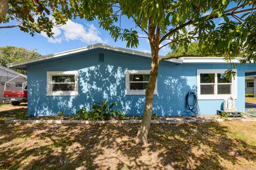
<svg viewBox="0 0 256 170">
<path fill-rule="evenodd" d="M 148 141 L 148 131 L 151 123 L 152 111 L 153 111 L 153 100 L 154 91 L 156 87 L 156 79 L 158 74 L 158 48 L 151 47 L 151 70 L 148 81 L 148 86 L 146 89 L 146 103 L 144 108 L 144 113 L 142 117 L 142 122 L 140 129 L 137 134 L 136 143 L 138 145 L 146 145 Z"/>
</svg>

